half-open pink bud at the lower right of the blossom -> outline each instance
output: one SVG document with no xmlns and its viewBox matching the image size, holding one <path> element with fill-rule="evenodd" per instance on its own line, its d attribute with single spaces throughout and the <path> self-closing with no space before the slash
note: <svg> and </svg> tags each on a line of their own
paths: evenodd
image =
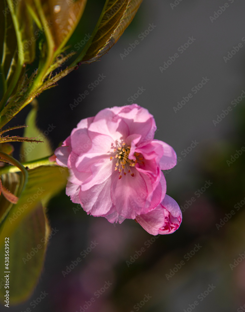
<svg viewBox="0 0 245 312">
<path fill-rule="evenodd" d="M 171 234 L 181 223 L 182 214 L 173 198 L 165 195 L 163 201 L 154 210 L 136 217 L 137 222 L 150 234 Z"/>
</svg>

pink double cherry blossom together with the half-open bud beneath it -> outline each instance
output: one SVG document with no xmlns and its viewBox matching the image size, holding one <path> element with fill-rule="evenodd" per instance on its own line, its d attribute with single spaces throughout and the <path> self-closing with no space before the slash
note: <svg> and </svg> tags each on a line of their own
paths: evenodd
<svg viewBox="0 0 245 312">
<path fill-rule="evenodd" d="M 137 104 L 82 119 L 55 151 L 57 163 L 70 169 L 72 202 L 111 223 L 136 218 L 151 234 L 174 232 L 181 211 L 166 195 L 161 170 L 176 165 L 176 154 L 154 139 L 155 131 L 154 117 Z"/>
</svg>

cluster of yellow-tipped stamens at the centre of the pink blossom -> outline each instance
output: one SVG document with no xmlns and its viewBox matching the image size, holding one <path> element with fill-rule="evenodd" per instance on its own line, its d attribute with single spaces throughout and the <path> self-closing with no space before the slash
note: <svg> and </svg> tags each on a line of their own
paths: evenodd
<svg viewBox="0 0 245 312">
<path fill-rule="evenodd" d="M 115 171 L 118 170 L 119 173 L 119 179 L 122 178 L 121 173 L 124 171 L 124 175 L 126 175 L 127 173 L 130 173 L 130 167 L 134 167 L 136 163 L 138 163 L 138 161 L 142 162 L 143 157 L 138 157 L 140 156 L 140 153 L 134 153 L 135 156 L 135 160 L 133 159 L 129 159 L 128 155 L 130 153 L 130 148 L 131 146 L 125 146 L 126 143 L 123 142 L 121 147 L 118 147 L 118 149 L 114 149 L 114 152 L 116 152 L 117 154 L 114 156 L 114 158 L 118 158 L 117 159 L 117 163 L 116 163 L 116 167 L 115 167 Z M 110 158 L 111 160 L 113 159 L 113 157 L 111 156 Z M 131 168 L 132 169 L 132 168 Z M 127 171 L 127 172 L 126 172 Z M 134 173 L 131 173 L 131 176 L 134 177 Z"/>
</svg>

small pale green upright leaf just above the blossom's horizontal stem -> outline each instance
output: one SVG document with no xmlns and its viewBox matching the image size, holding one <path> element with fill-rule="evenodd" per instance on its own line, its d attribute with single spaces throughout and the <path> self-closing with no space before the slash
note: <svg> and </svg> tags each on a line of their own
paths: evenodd
<svg viewBox="0 0 245 312">
<path fill-rule="evenodd" d="M 49 139 L 36 126 L 37 105 L 35 105 L 26 118 L 26 124 L 29 127 L 25 128 L 24 137 L 35 138 L 44 143 L 29 143 L 23 142 L 20 150 L 21 162 L 29 162 L 35 159 L 50 156 L 52 149 L 50 148 Z"/>
</svg>

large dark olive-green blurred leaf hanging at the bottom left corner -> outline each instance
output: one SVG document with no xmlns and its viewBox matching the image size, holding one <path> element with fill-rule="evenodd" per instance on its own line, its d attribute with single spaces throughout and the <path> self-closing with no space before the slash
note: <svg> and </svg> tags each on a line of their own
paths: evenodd
<svg viewBox="0 0 245 312">
<path fill-rule="evenodd" d="M 9 238 L 9 266 L 4 266 L 6 260 L 4 245 L 0 248 L 0 263 L 2 263 L 1 278 L 8 274 L 3 273 L 4 271 L 10 272 L 10 305 L 19 304 L 33 292 L 43 267 L 49 233 L 45 212 L 41 203 L 36 202 L 32 212 L 22 220 L 12 234 L 1 236 L 3 242 L 5 237 Z M 5 294 L 6 289 L 1 287 L 0 300 L 3 304 L 6 304 Z"/>
</svg>

